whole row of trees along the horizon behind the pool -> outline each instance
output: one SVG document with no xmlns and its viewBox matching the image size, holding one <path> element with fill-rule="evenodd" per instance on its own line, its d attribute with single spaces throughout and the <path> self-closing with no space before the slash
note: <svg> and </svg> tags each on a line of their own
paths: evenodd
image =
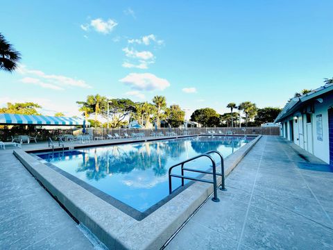
<svg viewBox="0 0 333 250">
<path fill-rule="evenodd" d="M 107 127 L 102 124 L 100 117 L 108 118 L 109 127 L 119 128 L 126 126 L 128 122 L 136 120 L 143 127 L 179 127 L 185 123 L 185 111 L 179 105 L 167 106 L 167 99 L 163 96 L 155 96 L 151 103 L 134 102 L 130 99 L 108 99 L 100 94 L 88 95 L 85 101 L 77 101 L 79 111 L 85 119 L 94 127 Z M 228 103 L 230 113 L 220 115 L 213 108 L 200 108 L 194 111 L 190 121 L 197 122 L 200 126 L 260 126 L 266 122 L 274 122 L 281 109 L 266 107 L 257 108 L 255 103 L 244 101 L 238 106 L 236 103 Z M 12 113 L 22 115 L 41 115 L 38 109 L 42 108 L 37 103 L 7 103 L 6 108 L 0 108 L 0 113 Z M 109 110 L 109 113 L 108 113 Z M 65 116 L 56 113 L 55 116 Z"/>
</svg>

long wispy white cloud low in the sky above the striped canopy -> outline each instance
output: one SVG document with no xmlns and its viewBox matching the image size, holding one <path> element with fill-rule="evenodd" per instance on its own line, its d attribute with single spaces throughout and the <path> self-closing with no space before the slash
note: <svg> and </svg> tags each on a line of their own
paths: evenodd
<svg viewBox="0 0 333 250">
<path fill-rule="evenodd" d="M 40 70 L 27 69 L 24 65 L 20 65 L 17 72 L 26 76 L 21 80 L 23 83 L 40 85 L 42 88 L 53 88 L 53 90 L 62 90 L 68 87 L 92 88 L 83 80 L 62 75 L 45 74 Z"/>
</svg>

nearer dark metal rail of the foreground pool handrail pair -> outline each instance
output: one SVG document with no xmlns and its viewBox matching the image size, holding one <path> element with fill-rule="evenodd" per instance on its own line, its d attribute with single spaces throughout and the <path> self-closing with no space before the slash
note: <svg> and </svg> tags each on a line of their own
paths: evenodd
<svg viewBox="0 0 333 250">
<path fill-rule="evenodd" d="M 209 181 L 209 180 L 205 180 L 205 179 L 201 179 L 201 178 L 195 178 L 195 177 L 191 177 L 191 176 L 185 176 L 184 175 L 184 170 L 185 171 L 191 171 L 191 172 L 202 172 L 201 170 L 196 170 L 196 169 L 185 169 L 184 168 L 184 165 L 185 163 L 188 163 L 192 160 L 196 160 L 198 158 L 201 158 L 201 157 L 207 157 L 209 158 L 211 161 L 212 161 L 212 167 L 213 167 L 213 172 L 205 172 L 206 174 L 212 174 L 213 175 L 213 181 Z M 181 168 L 181 171 L 182 171 L 182 174 L 179 175 L 179 174 L 171 174 L 171 171 L 174 167 L 178 167 L 178 166 L 182 166 Z M 220 199 L 217 197 L 217 184 L 216 184 L 216 163 L 215 163 L 215 160 L 212 158 L 212 156 L 206 154 L 206 153 L 203 153 L 203 154 L 200 154 L 198 156 L 194 156 L 192 158 L 189 158 L 187 160 L 184 160 L 176 165 L 173 165 L 172 167 L 169 168 L 169 194 L 172 193 L 172 183 L 171 183 L 171 177 L 176 177 L 176 178 L 181 178 L 182 179 L 182 186 L 184 186 L 184 179 L 187 179 L 187 180 L 191 180 L 191 181 L 201 181 L 201 182 L 205 182 L 205 183 L 212 183 L 213 184 L 213 189 L 214 189 L 214 197 L 212 198 L 212 201 L 215 201 L 215 202 L 219 202 Z"/>
</svg>

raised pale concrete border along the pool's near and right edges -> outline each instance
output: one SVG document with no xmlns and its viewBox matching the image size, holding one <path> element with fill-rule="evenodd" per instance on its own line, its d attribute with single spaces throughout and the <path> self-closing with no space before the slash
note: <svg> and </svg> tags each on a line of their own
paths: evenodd
<svg viewBox="0 0 333 250">
<path fill-rule="evenodd" d="M 260 138 L 261 135 L 225 158 L 227 176 Z M 87 226 L 110 249 L 160 249 L 212 194 L 212 185 L 194 183 L 153 213 L 137 221 L 26 151 L 15 149 L 13 153 L 73 217 Z"/>
</svg>

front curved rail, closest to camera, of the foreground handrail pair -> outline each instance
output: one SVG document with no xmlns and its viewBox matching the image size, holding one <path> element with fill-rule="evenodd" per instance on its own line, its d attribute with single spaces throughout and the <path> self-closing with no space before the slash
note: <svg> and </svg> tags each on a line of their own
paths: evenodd
<svg viewBox="0 0 333 250">
<path fill-rule="evenodd" d="M 188 176 L 184 176 L 184 169 L 183 169 L 183 167 L 184 167 L 184 165 L 185 165 L 185 163 L 189 163 L 190 161 L 192 161 L 192 160 L 196 160 L 196 159 L 198 159 L 198 158 L 202 158 L 202 157 L 207 157 L 207 158 L 209 158 L 211 161 L 212 161 L 212 167 L 213 167 L 213 188 L 214 188 L 214 197 L 212 198 L 212 201 L 216 201 L 216 202 L 218 202 L 218 201 L 220 201 L 219 200 L 219 198 L 217 197 L 217 184 L 216 184 L 216 163 L 215 163 L 215 160 L 214 160 L 214 158 L 212 158 L 212 156 L 210 156 L 210 155 L 208 155 L 208 154 L 206 154 L 206 153 L 203 153 L 203 154 L 200 154 L 200 155 L 198 155 L 198 156 L 194 156 L 194 157 L 192 157 L 192 158 L 189 158 L 189 159 L 187 159 L 187 160 L 183 160 L 182 162 L 180 162 L 180 163 L 177 163 L 176 165 L 173 165 L 173 166 L 171 166 L 170 168 L 169 168 L 169 193 L 171 194 L 171 192 L 172 192 L 172 184 L 171 184 L 171 177 L 172 176 L 174 176 L 174 177 L 178 177 L 178 178 L 182 178 L 182 186 L 184 185 L 184 179 L 186 178 L 186 179 L 191 179 L 191 180 L 195 180 L 195 181 L 203 181 L 202 179 L 200 180 L 200 179 L 198 179 L 198 178 L 191 178 L 191 177 L 188 177 Z M 181 176 L 175 176 L 175 175 L 171 175 L 171 171 L 172 171 L 172 169 L 174 168 L 174 167 L 178 167 L 178 166 L 182 166 L 182 175 Z M 205 181 L 205 182 L 207 182 L 207 181 Z"/>
</svg>

